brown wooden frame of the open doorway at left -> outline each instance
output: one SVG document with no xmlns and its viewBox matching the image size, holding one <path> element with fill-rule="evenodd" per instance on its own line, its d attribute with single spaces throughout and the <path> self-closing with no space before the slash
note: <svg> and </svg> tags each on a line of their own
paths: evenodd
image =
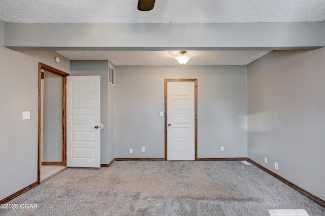
<svg viewBox="0 0 325 216">
<path fill-rule="evenodd" d="M 67 166 L 67 76 L 69 74 L 39 62 L 39 107 L 38 107 L 38 164 L 37 181 L 41 183 L 41 81 L 42 69 L 62 77 L 62 166 Z"/>
</svg>

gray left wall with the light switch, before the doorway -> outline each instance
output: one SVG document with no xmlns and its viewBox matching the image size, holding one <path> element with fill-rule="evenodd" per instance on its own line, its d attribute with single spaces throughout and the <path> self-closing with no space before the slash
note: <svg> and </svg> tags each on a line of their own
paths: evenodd
<svg viewBox="0 0 325 216">
<path fill-rule="evenodd" d="M 0 21 L 1 42 L 3 29 Z M 37 182 L 38 148 L 38 61 L 2 45 L 0 200 Z M 22 120 L 22 111 L 30 111 L 30 120 Z"/>
</svg>

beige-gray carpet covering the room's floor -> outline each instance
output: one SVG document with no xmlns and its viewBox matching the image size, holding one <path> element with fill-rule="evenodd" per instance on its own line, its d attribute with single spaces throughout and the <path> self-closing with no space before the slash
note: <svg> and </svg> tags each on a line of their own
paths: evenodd
<svg viewBox="0 0 325 216">
<path fill-rule="evenodd" d="M 0 209 L 0 215 L 325 215 L 322 206 L 240 161 L 68 168 L 8 203 L 38 208 Z"/>
</svg>

